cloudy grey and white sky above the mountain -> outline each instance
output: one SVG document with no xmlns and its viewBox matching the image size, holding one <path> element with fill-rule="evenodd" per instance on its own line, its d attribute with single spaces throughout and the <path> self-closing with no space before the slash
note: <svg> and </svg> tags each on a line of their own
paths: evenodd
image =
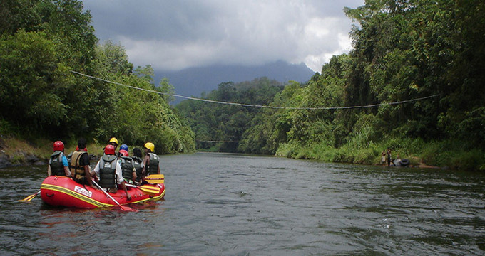
<svg viewBox="0 0 485 256">
<path fill-rule="evenodd" d="M 305 63 L 319 71 L 351 48 L 345 6 L 364 0 L 83 0 L 96 36 L 155 70 Z"/>
</svg>

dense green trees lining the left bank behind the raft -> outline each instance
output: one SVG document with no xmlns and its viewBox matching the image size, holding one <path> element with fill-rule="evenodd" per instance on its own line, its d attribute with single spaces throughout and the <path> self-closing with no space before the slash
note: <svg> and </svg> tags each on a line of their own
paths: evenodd
<svg viewBox="0 0 485 256">
<path fill-rule="evenodd" d="M 0 132 L 193 151 L 193 132 L 165 95 L 71 73 L 170 91 L 166 79 L 155 87 L 150 65 L 133 70 L 122 46 L 100 45 L 93 32 L 81 1 L 0 1 Z"/>
</svg>

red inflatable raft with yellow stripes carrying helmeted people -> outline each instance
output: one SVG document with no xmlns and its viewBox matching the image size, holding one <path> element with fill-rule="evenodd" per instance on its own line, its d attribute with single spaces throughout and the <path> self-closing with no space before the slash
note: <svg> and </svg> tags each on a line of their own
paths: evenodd
<svg viewBox="0 0 485 256">
<path fill-rule="evenodd" d="M 128 188 L 131 200 L 128 201 L 126 193 L 118 189 L 116 193 L 109 193 L 118 203 L 126 205 L 129 203 L 143 203 L 146 201 L 161 200 L 165 196 L 165 184 L 150 184 L 153 191 L 148 193 L 147 189 L 138 187 Z M 89 186 L 83 186 L 71 178 L 62 176 L 48 176 L 41 184 L 42 201 L 51 206 L 66 206 L 76 208 L 99 208 L 112 207 L 117 204 L 106 196 L 103 191 L 99 191 Z"/>
</svg>

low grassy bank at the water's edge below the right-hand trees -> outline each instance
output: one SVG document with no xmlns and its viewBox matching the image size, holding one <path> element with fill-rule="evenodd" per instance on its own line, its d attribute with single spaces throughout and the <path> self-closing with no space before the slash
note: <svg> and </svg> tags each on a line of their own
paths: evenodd
<svg viewBox="0 0 485 256">
<path fill-rule="evenodd" d="M 423 142 L 420 139 L 392 139 L 386 143 L 366 145 L 345 144 L 336 149 L 327 144 L 302 146 L 288 143 L 280 146 L 277 156 L 295 159 L 315 159 L 326 162 L 379 164 L 384 149 L 392 149 L 392 157 L 399 154 L 414 166 L 439 166 L 463 171 L 485 171 L 485 151 L 464 149 L 459 141 Z"/>
</svg>

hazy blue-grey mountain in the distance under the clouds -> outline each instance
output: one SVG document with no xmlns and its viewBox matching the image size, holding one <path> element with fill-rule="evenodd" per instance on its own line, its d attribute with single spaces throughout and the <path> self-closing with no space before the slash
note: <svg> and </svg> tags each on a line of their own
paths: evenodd
<svg viewBox="0 0 485 256">
<path fill-rule="evenodd" d="M 210 92 L 218 88 L 221 82 L 244 82 L 255 78 L 267 77 L 279 82 L 295 80 L 307 82 L 315 75 L 315 72 L 305 65 L 290 64 L 284 61 L 277 61 L 259 66 L 242 65 L 213 65 L 202 68 L 186 68 L 179 71 L 155 70 L 155 85 L 158 85 L 164 77 L 170 80 L 175 87 L 176 95 L 200 97 L 202 92 Z M 182 101 L 175 97 L 175 102 Z"/>
</svg>

